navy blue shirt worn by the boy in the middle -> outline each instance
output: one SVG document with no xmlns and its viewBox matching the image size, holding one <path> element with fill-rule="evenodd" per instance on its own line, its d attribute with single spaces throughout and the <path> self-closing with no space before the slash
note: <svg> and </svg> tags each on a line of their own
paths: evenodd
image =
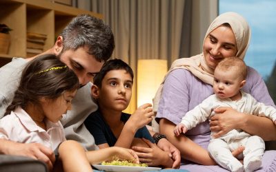
<svg viewBox="0 0 276 172">
<path fill-rule="evenodd" d="M 126 114 L 124 112 L 121 113 L 122 122 L 126 123 L 128 118 L 130 118 L 130 114 Z M 112 133 L 112 130 L 104 120 L 99 109 L 90 114 L 88 118 L 86 118 L 86 120 L 84 121 L 84 124 L 86 125 L 88 131 L 90 131 L 90 133 L 94 137 L 95 143 L 97 145 L 108 143 L 110 147 L 113 147 L 117 142 L 117 138 Z M 150 140 L 150 142 L 155 143 L 152 136 L 150 136 L 150 132 L 146 127 L 141 127 L 141 129 L 138 129 L 134 137 L 146 138 Z"/>
</svg>

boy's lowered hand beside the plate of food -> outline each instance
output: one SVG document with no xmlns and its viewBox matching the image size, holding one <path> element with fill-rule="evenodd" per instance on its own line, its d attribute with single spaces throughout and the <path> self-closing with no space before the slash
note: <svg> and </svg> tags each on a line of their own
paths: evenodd
<svg viewBox="0 0 276 172">
<path fill-rule="evenodd" d="M 164 166 L 165 168 L 171 168 L 173 164 L 172 158 L 166 151 L 162 151 L 157 147 L 156 144 L 153 144 L 149 140 L 142 139 L 148 147 L 132 147 L 135 151 L 137 151 L 137 155 L 139 157 L 140 162 L 144 162 L 149 166 Z"/>
</svg>

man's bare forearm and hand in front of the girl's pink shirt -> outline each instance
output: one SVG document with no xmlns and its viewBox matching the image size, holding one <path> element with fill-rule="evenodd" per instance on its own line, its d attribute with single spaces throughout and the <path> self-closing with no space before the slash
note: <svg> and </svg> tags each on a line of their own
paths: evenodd
<svg viewBox="0 0 276 172">
<path fill-rule="evenodd" d="M 39 143 L 18 143 L 9 140 L 0 140 L 0 144 L 5 147 L 1 150 L 6 155 L 21 155 L 35 160 L 40 160 L 48 165 L 49 171 L 55 163 L 55 154 L 53 151 Z M 4 145 L 3 145 L 4 144 Z"/>
</svg>

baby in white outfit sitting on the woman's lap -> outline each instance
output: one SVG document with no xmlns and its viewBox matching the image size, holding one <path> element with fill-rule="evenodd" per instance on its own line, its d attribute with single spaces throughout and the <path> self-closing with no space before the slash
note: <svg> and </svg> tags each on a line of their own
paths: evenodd
<svg viewBox="0 0 276 172">
<path fill-rule="evenodd" d="M 175 135 L 186 133 L 199 122 L 204 122 L 215 114 L 217 107 L 232 107 L 237 111 L 247 114 L 261 114 L 276 123 L 276 109 L 257 103 L 253 96 L 242 92 L 246 83 L 246 65 L 237 57 L 224 58 L 214 73 L 213 90 L 215 94 L 209 96 L 193 110 L 188 111 L 181 123 L 175 127 Z M 264 140 L 259 136 L 250 136 L 249 133 L 233 129 L 221 138 L 214 138 L 211 133 L 208 151 L 214 160 L 230 171 L 255 171 L 262 165 L 264 154 Z M 244 146 L 244 165 L 235 158 L 231 151 Z"/>
</svg>

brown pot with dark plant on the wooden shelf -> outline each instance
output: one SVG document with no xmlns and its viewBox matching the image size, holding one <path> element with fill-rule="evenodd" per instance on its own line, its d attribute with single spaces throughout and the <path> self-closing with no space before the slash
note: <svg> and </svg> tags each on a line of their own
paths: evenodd
<svg viewBox="0 0 276 172">
<path fill-rule="evenodd" d="M 11 30 L 8 25 L 0 24 L 0 54 L 8 54 Z"/>
</svg>

